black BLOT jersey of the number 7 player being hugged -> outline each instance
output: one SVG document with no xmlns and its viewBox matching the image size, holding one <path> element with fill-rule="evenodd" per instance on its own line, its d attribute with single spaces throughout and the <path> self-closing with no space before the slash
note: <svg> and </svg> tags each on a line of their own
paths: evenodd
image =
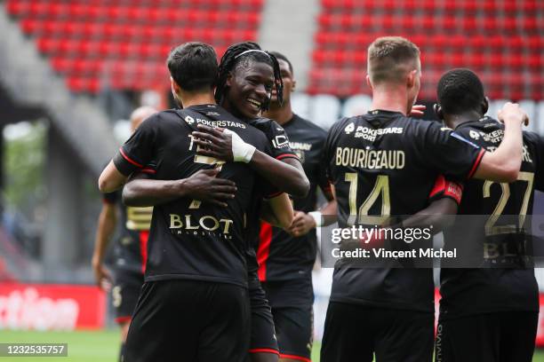
<svg viewBox="0 0 544 362">
<path fill-rule="evenodd" d="M 130 175 L 150 165 L 156 179 L 174 180 L 214 167 L 218 160 L 196 155 L 191 132 L 198 123 L 233 130 L 258 150 L 271 153 L 263 132 L 220 106 L 189 106 L 142 122 L 116 155 L 116 168 Z M 227 208 L 187 197 L 153 209 L 146 281 L 196 279 L 246 286 L 245 216 L 255 189 L 264 185 L 257 185 L 256 174 L 242 162 L 222 164 L 218 177 L 236 183 L 236 198 Z"/>
</svg>

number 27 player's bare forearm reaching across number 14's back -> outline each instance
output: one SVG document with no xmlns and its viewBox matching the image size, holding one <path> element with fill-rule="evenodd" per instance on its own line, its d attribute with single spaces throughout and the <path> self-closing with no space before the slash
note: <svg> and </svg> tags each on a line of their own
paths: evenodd
<svg viewBox="0 0 544 362">
<path fill-rule="evenodd" d="M 457 214 L 457 202 L 450 198 L 433 201 L 426 209 L 403 220 L 403 227 L 424 227 L 433 225 L 432 232 L 436 234 L 450 226 L 453 222 L 453 215 Z"/>
</svg>

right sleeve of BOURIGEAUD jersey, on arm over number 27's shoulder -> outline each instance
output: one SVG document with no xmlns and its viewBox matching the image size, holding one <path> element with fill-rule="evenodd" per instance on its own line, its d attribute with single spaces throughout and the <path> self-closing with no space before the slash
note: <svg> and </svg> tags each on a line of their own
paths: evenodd
<svg viewBox="0 0 544 362">
<path fill-rule="evenodd" d="M 462 182 L 474 176 L 484 157 L 482 147 L 470 142 L 462 133 L 441 127 L 436 122 L 429 122 L 428 127 L 421 127 L 420 131 L 424 132 L 423 142 L 413 146 L 427 166 L 455 181 Z"/>
</svg>

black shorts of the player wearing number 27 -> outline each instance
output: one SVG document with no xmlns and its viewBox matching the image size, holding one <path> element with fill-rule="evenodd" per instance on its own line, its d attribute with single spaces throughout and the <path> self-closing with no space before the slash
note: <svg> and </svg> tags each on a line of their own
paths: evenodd
<svg viewBox="0 0 544 362">
<path fill-rule="evenodd" d="M 531 362 L 539 313 L 501 311 L 439 320 L 436 362 Z"/>
</svg>

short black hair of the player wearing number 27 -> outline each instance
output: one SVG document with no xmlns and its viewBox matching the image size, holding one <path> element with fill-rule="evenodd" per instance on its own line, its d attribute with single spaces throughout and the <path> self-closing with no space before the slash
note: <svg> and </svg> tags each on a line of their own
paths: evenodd
<svg viewBox="0 0 544 362">
<path fill-rule="evenodd" d="M 436 95 L 445 114 L 479 110 L 484 101 L 484 84 L 470 69 L 456 68 L 442 75 Z"/>
</svg>

